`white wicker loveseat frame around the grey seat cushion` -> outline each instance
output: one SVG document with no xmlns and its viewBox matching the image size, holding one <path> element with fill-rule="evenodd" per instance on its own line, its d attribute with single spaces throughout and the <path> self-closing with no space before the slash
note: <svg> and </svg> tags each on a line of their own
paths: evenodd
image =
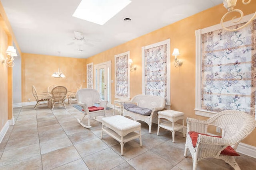
<svg viewBox="0 0 256 170">
<path fill-rule="evenodd" d="M 128 102 L 125 102 L 128 103 Z M 151 127 L 152 127 L 152 118 L 157 117 L 157 112 L 164 109 L 165 107 L 165 99 L 160 96 L 152 96 L 152 95 L 145 95 L 145 94 L 139 94 L 134 96 L 129 103 L 136 103 L 139 107 L 144 107 L 151 109 L 151 114 L 149 116 L 147 115 L 140 115 L 138 113 L 133 113 L 131 111 L 123 109 L 124 113 L 123 116 L 128 116 L 134 119 L 135 121 L 144 121 L 148 124 L 149 130 L 148 133 L 151 133 Z"/>
</svg>

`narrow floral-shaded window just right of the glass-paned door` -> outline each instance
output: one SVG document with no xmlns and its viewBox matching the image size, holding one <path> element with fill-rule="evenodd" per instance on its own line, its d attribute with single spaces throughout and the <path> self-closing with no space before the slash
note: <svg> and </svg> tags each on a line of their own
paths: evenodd
<svg viewBox="0 0 256 170">
<path fill-rule="evenodd" d="M 130 51 L 115 55 L 115 98 L 130 100 Z"/>
</svg>

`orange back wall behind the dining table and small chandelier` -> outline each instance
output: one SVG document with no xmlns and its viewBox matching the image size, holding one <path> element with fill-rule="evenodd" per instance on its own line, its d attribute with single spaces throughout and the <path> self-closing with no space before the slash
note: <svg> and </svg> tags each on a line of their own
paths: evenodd
<svg viewBox="0 0 256 170">
<path fill-rule="evenodd" d="M 76 92 L 78 85 L 86 87 L 86 59 L 22 53 L 22 102 L 36 101 L 32 86 L 38 93 L 47 92 L 51 84 L 65 86 Z M 54 78 L 52 74 L 60 67 L 66 78 Z"/>
</svg>

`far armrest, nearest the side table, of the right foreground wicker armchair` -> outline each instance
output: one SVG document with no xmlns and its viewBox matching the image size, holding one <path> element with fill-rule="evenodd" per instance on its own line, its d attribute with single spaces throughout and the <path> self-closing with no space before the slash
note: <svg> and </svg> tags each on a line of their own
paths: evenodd
<svg viewBox="0 0 256 170">
<path fill-rule="evenodd" d="M 187 133 L 189 131 L 196 131 L 198 133 L 207 133 L 206 128 L 207 128 L 206 121 L 187 117 Z"/>
</svg>

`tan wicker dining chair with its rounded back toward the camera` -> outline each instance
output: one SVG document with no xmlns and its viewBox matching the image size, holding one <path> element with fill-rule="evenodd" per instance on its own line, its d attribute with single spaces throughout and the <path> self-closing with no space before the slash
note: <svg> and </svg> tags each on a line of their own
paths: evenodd
<svg viewBox="0 0 256 170">
<path fill-rule="evenodd" d="M 67 88 L 64 86 L 56 86 L 52 89 L 51 92 L 51 99 L 52 99 L 52 110 L 54 109 L 54 106 L 64 106 L 65 105 L 65 99 L 67 95 Z"/>
</svg>

